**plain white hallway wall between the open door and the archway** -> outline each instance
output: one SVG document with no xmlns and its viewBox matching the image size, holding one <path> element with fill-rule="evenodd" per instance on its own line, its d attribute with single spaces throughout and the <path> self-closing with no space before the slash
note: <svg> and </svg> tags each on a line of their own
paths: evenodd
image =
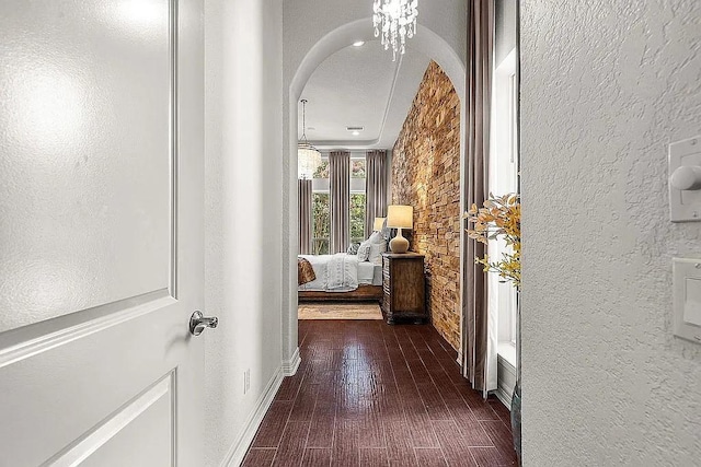
<svg viewBox="0 0 701 467">
<path fill-rule="evenodd" d="M 205 26 L 206 310 L 220 318 L 205 334 L 205 451 L 218 466 L 281 365 L 281 1 L 207 0 Z"/>
</svg>

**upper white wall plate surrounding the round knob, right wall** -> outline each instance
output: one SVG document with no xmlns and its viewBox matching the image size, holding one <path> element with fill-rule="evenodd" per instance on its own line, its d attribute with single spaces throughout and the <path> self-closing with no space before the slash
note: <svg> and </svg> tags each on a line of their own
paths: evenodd
<svg viewBox="0 0 701 467">
<path fill-rule="evenodd" d="M 701 135 L 669 144 L 668 177 L 682 165 L 701 165 Z M 701 221 L 701 189 L 679 190 L 669 179 L 667 185 L 671 222 Z"/>
</svg>

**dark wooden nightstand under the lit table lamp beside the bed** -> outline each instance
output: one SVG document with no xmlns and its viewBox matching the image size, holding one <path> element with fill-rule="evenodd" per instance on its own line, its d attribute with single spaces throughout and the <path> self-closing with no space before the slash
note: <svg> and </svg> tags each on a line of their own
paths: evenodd
<svg viewBox="0 0 701 467">
<path fill-rule="evenodd" d="M 426 323 L 424 255 L 382 254 L 382 316 L 388 324 Z"/>
</svg>

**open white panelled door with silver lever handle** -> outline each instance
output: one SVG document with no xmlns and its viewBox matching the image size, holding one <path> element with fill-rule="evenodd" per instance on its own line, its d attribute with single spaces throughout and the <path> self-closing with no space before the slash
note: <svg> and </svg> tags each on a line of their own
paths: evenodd
<svg viewBox="0 0 701 467">
<path fill-rule="evenodd" d="M 202 0 L 0 2 L 0 466 L 202 465 L 203 55 Z"/>
</svg>

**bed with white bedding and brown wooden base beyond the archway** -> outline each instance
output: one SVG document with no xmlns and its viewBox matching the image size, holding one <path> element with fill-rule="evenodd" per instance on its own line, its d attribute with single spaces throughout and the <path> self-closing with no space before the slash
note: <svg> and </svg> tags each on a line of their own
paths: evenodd
<svg viewBox="0 0 701 467">
<path fill-rule="evenodd" d="M 379 301 L 382 265 L 360 261 L 357 255 L 300 255 L 314 271 L 314 280 L 299 285 L 299 301 Z"/>
</svg>

